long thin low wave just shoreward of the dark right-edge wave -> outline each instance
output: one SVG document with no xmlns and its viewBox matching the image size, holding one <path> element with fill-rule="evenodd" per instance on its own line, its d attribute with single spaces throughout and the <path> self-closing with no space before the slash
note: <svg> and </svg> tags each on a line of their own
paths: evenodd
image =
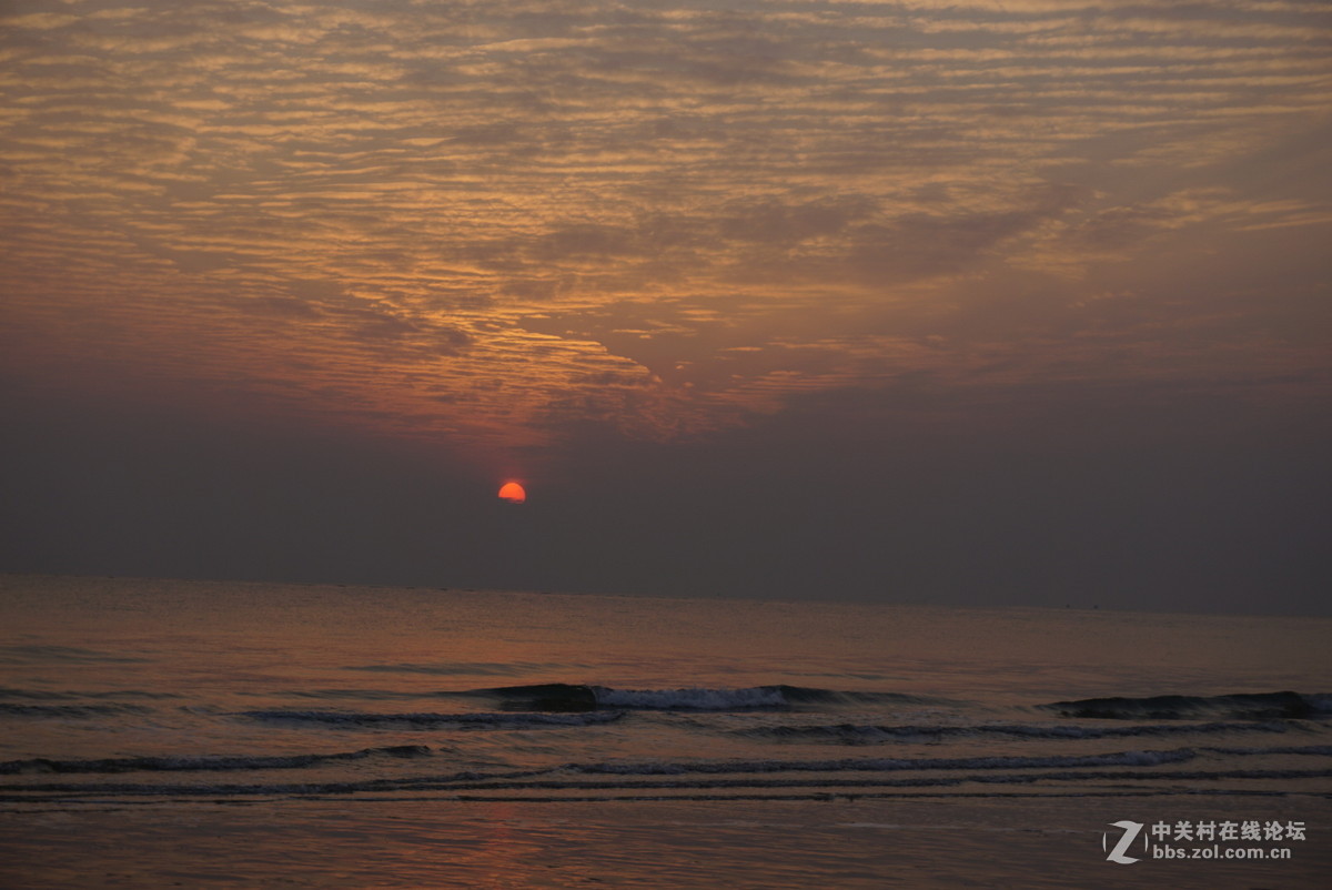
<svg viewBox="0 0 1332 890">
<path fill-rule="evenodd" d="M 875 745 L 884 742 L 934 742 L 956 737 L 1000 735 L 1006 738 L 1036 739 L 1080 739 L 1080 738 L 1132 738 L 1180 734 L 1211 733 L 1284 733 L 1300 723 L 1268 722 L 1213 722 L 1213 723 L 1167 723 L 1146 726 L 1070 726 L 1067 723 L 979 723 L 972 726 L 879 726 L 856 723 L 813 723 L 803 726 L 758 726 L 731 730 L 735 735 L 773 739 L 782 742 L 813 742 L 831 745 Z"/>
</svg>

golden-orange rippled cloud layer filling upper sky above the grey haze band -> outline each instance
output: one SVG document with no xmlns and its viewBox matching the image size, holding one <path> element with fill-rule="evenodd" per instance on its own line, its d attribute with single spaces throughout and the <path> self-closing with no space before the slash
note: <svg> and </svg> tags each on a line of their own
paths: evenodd
<svg viewBox="0 0 1332 890">
<path fill-rule="evenodd" d="M 4 366 L 484 450 L 922 376 L 1325 397 L 1329 37 L 1293 0 L 19 0 Z"/>
</svg>

